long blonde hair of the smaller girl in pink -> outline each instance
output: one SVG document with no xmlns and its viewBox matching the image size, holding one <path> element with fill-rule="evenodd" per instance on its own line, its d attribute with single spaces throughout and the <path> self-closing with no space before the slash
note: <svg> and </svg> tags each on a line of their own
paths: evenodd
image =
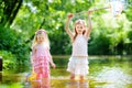
<svg viewBox="0 0 132 88">
<path fill-rule="evenodd" d="M 47 33 L 46 33 L 45 30 L 41 29 L 41 30 L 37 30 L 35 32 L 35 35 L 34 35 L 34 38 L 33 38 L 33 43 L 32 43 L 32 50 L 37 44 L 37 35 L 38 34 L 44 34 L 44 45 L 46 45 L 50 48 L 50 40 L 48 40 Z"/>
</svg>

